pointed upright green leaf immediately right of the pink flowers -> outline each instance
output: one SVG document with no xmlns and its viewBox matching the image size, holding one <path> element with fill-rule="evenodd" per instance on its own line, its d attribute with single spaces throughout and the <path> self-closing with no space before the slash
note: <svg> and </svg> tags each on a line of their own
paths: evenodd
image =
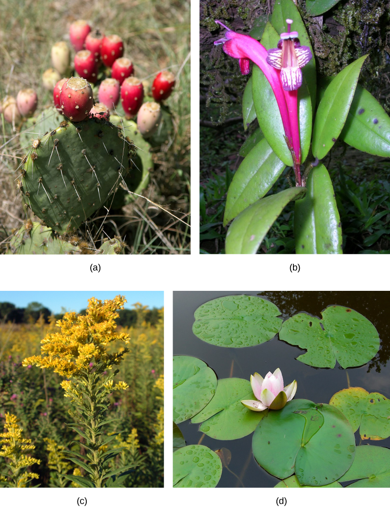
<svg viewBox="0 0 390 507">
<path fill-rule="evenodd" d="M 320 160 L 327 155 L 344 127 L 366 58 L 367 55 L 362 56 L 343 68 L 325 90 L 318 106 L 311 145 L 313 155 Z"/>
</svg>

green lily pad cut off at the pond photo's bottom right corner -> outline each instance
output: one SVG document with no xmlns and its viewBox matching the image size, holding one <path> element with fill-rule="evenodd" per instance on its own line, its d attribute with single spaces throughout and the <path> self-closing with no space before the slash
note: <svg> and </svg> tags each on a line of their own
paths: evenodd
<svg viewBox="0 0 390 507">
<path fill-rule="evenodd" d="M 357 480 L 347 488 L 390 487 L 390 450 L 371 445 L 358 446 L 352 466 L 339 480 Z"/>
</svg>

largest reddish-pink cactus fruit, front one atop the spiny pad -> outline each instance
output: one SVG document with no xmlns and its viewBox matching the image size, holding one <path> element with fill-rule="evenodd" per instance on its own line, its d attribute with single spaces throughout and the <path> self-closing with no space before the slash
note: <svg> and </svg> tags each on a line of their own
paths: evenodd
<svg viewBox="0 0 390 507">
<path fill-rule="evenodd" d="M 69 78 L 60 92 L 61 108 L 72 122 L 81 122 L 89 115 L 93 106 L 91 85 L 84 78 Z"/>
</svg>

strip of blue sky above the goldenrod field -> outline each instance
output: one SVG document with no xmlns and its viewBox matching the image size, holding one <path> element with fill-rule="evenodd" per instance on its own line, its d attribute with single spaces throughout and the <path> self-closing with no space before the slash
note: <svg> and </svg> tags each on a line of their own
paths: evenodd
<svg viewBox="0 0 390 507">
<path fill-rule="evenodd" d="M 28 303 L 36 301 L 53 313 L 60 313 L 62 307 L 67 311 L 79 312 L 87 308 L 89 298 L 104 300 L 118 295 L 126 297 L 125 308 L 129 310 L 134 303 L 142 303 L 149 308 L 164 306 L 163 291 L 0 291 L 0 302 L 7 301 L 18 308 L 26 308 Z"/>
</svg>

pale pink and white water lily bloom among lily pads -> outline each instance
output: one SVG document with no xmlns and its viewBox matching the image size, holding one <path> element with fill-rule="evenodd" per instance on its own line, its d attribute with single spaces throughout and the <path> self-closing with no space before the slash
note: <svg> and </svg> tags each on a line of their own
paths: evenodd
<svg viewBox="0 0 390 507">
<path fill-rule="evenodd" d="M 284 387 L 282 372 L 279 368 L 274 373 L 268 372 L 263 378 L 258 373 L 251 375 L 251 386 L 256 400 L 242 400 L 241 403 L 250 410 L 261 412 L 265 409 L 279 410 L 293 399 L 297 382 Z"/>
</svg>

